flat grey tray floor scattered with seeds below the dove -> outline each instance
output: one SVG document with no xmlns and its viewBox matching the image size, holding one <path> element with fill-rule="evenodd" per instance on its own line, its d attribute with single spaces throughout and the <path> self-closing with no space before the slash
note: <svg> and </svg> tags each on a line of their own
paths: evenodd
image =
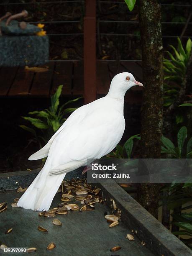
<svg viewBox="0 0 192 256">
<path fill-rule="evenodd" d="M 22 193 L 13 191 L 0 193 L 0 202 L 8 202 L 8 209 L 0 213 L 0 242 L 8 247 L 36 247 L 34 255 L 39 256 L 154 255 L 141 245 L 138 238 L 134 241 L 125 238 L 127 233 L 131 233 L 125 223 L 121 222 L 114 228 L 108 227 L 104 213 L 109 209 L 104 204 L 95 205 L 93 211 L 70 211 L 67 215 L 57 215 L 56 218 L 63 225 L 55 226 L 53 218 L 39 217 L 38 212 L 32 210 L 10 207 L 13 199 L 21 195 Z M 60 193 L 56 194 L 51 207 L 56 207 L 61 202 L 60 197 Z M 48 233 L 39 231 L 38 225 L 46 228 Z M 13 228 L 13 231 L 5 234 L 8 228 Z M 51 242 L 55 243 L 56 248 L 46 251 Z M 114 246 L 120 246 L 120 251 L 110 252 Z"/>
</svg>

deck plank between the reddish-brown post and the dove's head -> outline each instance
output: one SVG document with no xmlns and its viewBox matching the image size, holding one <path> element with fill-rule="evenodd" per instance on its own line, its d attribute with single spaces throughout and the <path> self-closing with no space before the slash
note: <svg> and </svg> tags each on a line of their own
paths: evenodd
<svg viewBox="0 0 192 256">
<path fill-rule="evenodd" d="M 107 94 L 110 87 L 108 62 L 97 61 L 97 94 Z"/>
</svg>

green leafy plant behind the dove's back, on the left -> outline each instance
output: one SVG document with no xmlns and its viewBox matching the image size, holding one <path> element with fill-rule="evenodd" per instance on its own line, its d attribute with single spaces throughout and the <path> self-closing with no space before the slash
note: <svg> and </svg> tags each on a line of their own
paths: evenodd
<svg viewBox="0 0 192 256">
<path fill-rule="evenodd" d="M 33 134 L 34 138 L 41 147 L 41 142 L 47 143 L 49 138 L 60 128 L 60 126 L 67 120 L 67 114 L 72 113 L 76 108 L 65 108 L 69 103 L 76 102 L 82 97 L 74 100 L 69 100 L 63 105 L 59 106 L 59 97 L 61 95 L 63 85 L 59 85 L 54 95 L 51 96 L 51 106 L 48 109 L 36 110 L 29 112 L 29 115 L 35 115 L 35 118 L 24 116 L 23 119 L 28 120 L 31 125 L 42 132 L 39 136 L 36 129 L 26 125 L 20 125 L 21 128 Z M 45 132 L 46 131 L 46 132 Z"/>
</svg>

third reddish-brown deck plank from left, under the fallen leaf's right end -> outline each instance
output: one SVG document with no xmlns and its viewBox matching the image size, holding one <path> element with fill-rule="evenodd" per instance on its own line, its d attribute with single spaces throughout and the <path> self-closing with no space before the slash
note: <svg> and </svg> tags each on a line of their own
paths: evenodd
<svg viewBox="0 0 192 256">
<path fill-rule="evenodd" d="M 35 74 L 30 90 L 31 96 L 49 97 L 54 72 L 54 62 L 49 62 L 42 67 L 45 66 L 49 68 L 48 71 Z"/>
</svg>

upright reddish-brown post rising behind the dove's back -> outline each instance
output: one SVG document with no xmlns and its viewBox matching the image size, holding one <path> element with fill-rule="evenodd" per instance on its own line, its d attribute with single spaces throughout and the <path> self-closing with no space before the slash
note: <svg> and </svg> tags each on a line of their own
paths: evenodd
<svg viewBox="0 0 192 256">
<path fill-rule="evenodd" d="M 84 102 L 96 100 L 96 0 L 86 0 L 84 17 Z"/>
</svg>

